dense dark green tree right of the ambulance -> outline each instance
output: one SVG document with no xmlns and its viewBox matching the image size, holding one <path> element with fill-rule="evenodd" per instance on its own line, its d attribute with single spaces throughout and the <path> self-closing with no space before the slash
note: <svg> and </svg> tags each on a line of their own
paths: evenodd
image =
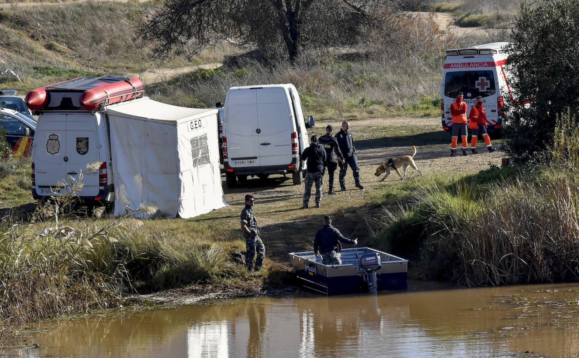
<svg viewBox="0 0 579 358">
<path fill-rule="evenodd" d="M 579 0 L 521 5 L 507 47 L 507 152 L 532 159 L 554 144 L 557 119 L 579 110 Z"/>
</svg>

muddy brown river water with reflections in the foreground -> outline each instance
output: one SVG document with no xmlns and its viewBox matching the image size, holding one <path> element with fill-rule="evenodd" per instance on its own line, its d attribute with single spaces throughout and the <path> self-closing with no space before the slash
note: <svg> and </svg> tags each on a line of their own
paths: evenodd
<svg viewBox="0 0 579 358">
<path fill-rule="evenodd" d="M 433 289 L 434 288 L 434 289 Z M 42 324 L 24 357 L 573 357 L 579 284 L 295 296 Z"/>
</svg>

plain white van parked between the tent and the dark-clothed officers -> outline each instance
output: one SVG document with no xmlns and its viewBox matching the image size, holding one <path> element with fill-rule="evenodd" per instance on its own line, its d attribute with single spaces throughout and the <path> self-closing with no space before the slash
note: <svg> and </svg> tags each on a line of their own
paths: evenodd
<svg viewBox="0 0 579 358">
<path fill-rule="evenodd" d="M 292 174 L 301 184 L 306 162 L 299 155 L 309 145 L 314 118 L 303 115 L 294 85 L 231 87 L 225 97 L 223 167 L 226 184 L 247 176 Z"/>
</svg>

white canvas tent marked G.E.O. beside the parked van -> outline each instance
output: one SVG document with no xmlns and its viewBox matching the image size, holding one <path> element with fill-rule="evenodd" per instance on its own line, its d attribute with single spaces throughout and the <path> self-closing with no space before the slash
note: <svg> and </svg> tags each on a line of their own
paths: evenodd
<svg viewBox="0 0 579 358">
<path fill-rule="evenodd" d="M 156 206 L 154 216 L 166 218 L 190 218 L 227 205 L 219 173 L 217 109 L 143 97 L 110 105 L 107 115 L 115 216 L 141 203 Z"/>
</svg>

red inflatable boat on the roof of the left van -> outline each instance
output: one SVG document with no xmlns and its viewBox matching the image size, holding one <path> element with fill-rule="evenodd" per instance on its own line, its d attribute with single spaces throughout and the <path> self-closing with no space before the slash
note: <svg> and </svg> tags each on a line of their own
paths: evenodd
<svg viewBox="0 0 579 358">
<path fill-rule="evenodd" d="M 143 96 L 140 79 L 113 75 L 79 77 L 31 91 L 25 103 L 32 111 L 41 109 L 85 109 L 97 111 L 107 105 L 134 100 Z"/>
</svg>

